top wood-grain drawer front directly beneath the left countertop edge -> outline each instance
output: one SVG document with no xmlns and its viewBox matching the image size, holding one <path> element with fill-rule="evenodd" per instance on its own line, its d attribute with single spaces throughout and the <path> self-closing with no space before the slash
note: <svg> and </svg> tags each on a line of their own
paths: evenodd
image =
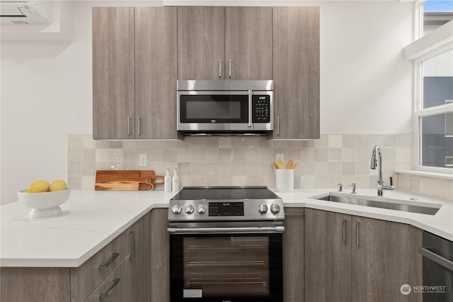
<svg viewBox="0 0 453 302">
<path fill-rule="evenodd" d="M 123 232 L 80 267 L 71 268 L 71 301 L 85 301 L 125 257 L 126 233 Z"/>
</svg>

